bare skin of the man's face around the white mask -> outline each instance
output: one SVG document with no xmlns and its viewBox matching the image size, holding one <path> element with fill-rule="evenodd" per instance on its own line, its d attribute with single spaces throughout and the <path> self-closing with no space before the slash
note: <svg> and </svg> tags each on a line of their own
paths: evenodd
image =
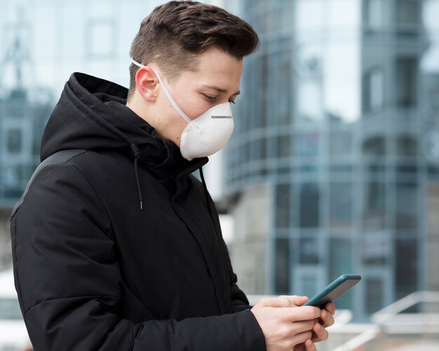
<svg viewBox="0 0 439 351">
<path fill-rule="evenodd" d="M 165 84 L 180 109 L 193 120 L 217 104 L 234 102 L 239 94 L 242 71 L 242 60 L 210 48 L 199 55 L 197 71 L 183 71 L 173 83 L 167 83 L 165 79 Z M 158 130 L 158 134 L 180 146 L 187 122 L 175 111 L 160 88 L 157 104 L 161 118 L 166 118 L 166 128 Z"/>
</svg>

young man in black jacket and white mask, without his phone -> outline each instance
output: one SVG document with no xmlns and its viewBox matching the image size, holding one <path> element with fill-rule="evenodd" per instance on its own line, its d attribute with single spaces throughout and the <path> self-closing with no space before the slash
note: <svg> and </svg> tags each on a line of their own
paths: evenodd
<svg viewBox="0 0 439 351">
<path fill-rule="evenodd" d="M 327 338 L 332 304 L 283 296 L 250 310 L 191 176 L 229 139 L 242 59 L 258 43 L 221 8 L 170 1 L 133 41 L 129 91 L 71 76 L 11 215 L 36 351 L 316 350 Z"/>
</svg>

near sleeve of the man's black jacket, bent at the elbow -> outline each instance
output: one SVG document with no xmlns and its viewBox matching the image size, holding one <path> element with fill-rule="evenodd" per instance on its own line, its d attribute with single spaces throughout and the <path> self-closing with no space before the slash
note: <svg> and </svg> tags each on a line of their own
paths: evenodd
<svg viewBox="0 0 439 351">
<path fill-rule="evenodd" d="M 36 351 L 265 350 L 250 311 L 180 322 L 119 319 L 111 229 L 74 165 L 50 165 L 36 175 L 11 216 L 15 287 Z"/>
</svg>

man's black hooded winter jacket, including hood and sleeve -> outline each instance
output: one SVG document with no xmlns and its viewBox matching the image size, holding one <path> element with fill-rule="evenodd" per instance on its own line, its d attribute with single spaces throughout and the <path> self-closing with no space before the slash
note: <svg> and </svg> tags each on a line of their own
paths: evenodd
<svg viewBox="0 0 439 351">
<path fill-rule="evenodd" d="M 11 215 L 35 350 L 265 350 L 215 206 L 191 175 L 208 159 L 184 160 L 126 95 L 70 77 L 41 144 L 42 161 L 58 157 Z"/>
</svg>

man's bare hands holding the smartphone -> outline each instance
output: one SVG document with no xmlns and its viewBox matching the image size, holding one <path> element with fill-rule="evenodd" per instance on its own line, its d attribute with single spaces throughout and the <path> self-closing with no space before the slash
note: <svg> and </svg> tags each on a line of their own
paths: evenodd
<svg viewBox="0 0 439 351">
<path fill-rule="evenodd" d="M 320 318 L 324 323 L 330 323 L 329 315 L 332 314 L 325 312 L 322 317 L 323 310 L 320 308 L 302 306 L 306 301 L 306 296 L 262 298 L 252 308 L 252 313 L 264 333 L 267 351 L 301 350 L 296 347 L 302 345 L 306 347 L 306 351 L 316 350 L 311 341 L 313 333 L 315 340 L 324 338 L 327 333 L 323 327 L 324 332 L 316 326 L 316 320 Z"/>
</svg>

